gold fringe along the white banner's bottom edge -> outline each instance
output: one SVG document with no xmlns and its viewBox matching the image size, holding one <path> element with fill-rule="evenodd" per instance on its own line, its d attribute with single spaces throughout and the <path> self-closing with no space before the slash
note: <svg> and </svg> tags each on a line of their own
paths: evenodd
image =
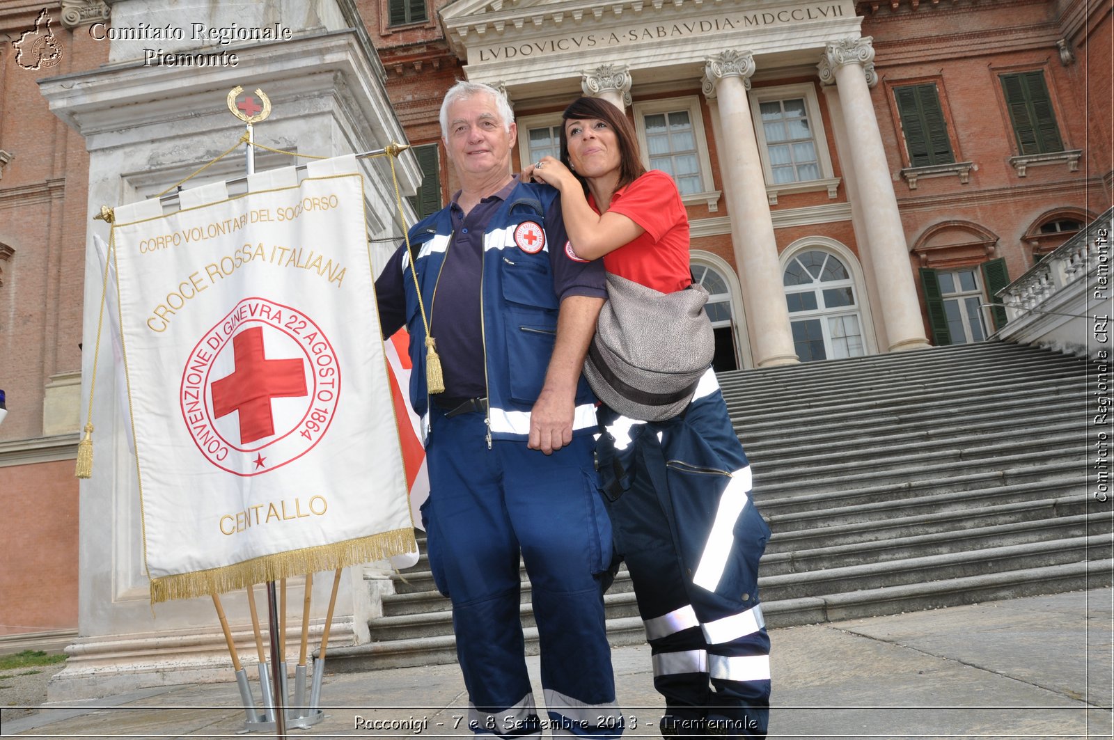
<svg viewBox="0 0 1114 740">
<path fill-rule="evenodd" d="M 295 575 L 335 571 L 382 561 L 392 555 L 418 552 L 418 542 L 412 528 L 393 529 L 370 537 L 358 537 L 331 545 L 319 545 L 286 553 L 262 555 L 235 565 L 226 565 L 208 571 L 180 573 L 162 578 L 152 578 L 150 601 L 159 604 L 176 598 L 194 598 L 223 594 L 250 584 L 278 581 Z"/>
</svg>

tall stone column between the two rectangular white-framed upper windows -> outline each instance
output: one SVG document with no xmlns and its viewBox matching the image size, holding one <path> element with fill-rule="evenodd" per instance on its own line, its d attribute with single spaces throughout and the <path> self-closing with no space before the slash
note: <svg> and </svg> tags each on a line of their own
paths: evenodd
<svg viewBox="0 0 1114 740">
<path fill-rule="evenodd" d="M 702 82 L 704 95 L 719 104 L 720 176 L 731 215 L 731 241 L 743 286 L 754 362 L 760 368 L 795 363 L 778 242 L 746 100 L 754 57 L 750 51 L 727 50 L 707 57 L 706 61 Z"/>
</svg>

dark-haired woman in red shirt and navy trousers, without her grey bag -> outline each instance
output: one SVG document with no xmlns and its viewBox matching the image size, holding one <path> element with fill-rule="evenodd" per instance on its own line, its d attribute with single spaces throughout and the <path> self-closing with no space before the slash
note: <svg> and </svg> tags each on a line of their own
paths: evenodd
<svg viewBox="0 0 1114 740">
<path fill-rule="evenodd" d="M 688 220 L 673 178 L 646 171 L 631 121 L 598 98 L 563 115 L 561 158 L 522 176 L 560 191 L 569 259 L 662 293 L 691 282 Z M 684 338 L 677 338 L 684 341 Z M 765 737 L 770 640 L 758 565 L 770 529 L 711 368 L 664 421 L 599 409 L 600 489 L 666 700 L 663 734 Z"/>
</svg>

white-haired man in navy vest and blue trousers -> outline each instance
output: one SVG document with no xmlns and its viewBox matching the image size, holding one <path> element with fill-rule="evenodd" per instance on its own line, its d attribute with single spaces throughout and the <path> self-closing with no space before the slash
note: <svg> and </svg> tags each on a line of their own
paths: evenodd
<svg viewBox="0 0 1114 740">
<path fill-rule="evenodd" d="M 616 737 L 600 588 L 612 532 L 593 467 L 595 399 L 580 378 L 603 267 L 566 249 L 557 192 L 511 175 L 517 128 L 502 95 L 458 82 L 441 134 L 461 189 L 410 230 L 375 291 L 383 335 L 410 331 L 430 476 L 422 519 L 433 580 L 452 600 L 469 724 L 500 737 L 544 726 Z M 429 387 L 427 337 L 443 392 Z M 524 660 L 519 555 L 546 722 Z"/>
</svg>

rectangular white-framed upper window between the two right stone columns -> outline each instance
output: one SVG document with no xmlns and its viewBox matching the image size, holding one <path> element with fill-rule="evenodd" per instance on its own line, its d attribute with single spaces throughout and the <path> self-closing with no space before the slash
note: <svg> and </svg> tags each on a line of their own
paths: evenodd
<svg viewBox="0 0 1114 740">
<path fill-rule="evenodd" d="M 832 176 L 815 88 L 763 87 L 750 97 L 770 202 L 776 203 L 779 193 L 823 189 L 836 197 L 839 178 Z"/>
</svg>

